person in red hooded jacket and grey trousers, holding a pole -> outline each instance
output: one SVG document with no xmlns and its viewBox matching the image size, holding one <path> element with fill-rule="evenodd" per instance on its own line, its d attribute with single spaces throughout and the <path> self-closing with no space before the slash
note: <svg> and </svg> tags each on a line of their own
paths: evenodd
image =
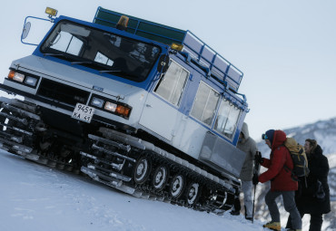
<svg viewBox="0 0 336 231">
<path fill-rule="evenodd" d="M 294 201 L 298 182 L 292 179 L 292 172 L 284 168 L 284 166 L 290 169 L 293 168 L 291 154 L 283 145 L 286 140 L 286 133 L 282 130 L 267 130 L 265 134 L 262 134 L 262 140 L 265 140 L 265 143 L 271 149 L 270 159 L 262 158 L 262 155 L 258 155 L 255 158 L 268 170 L 263 172 L 259 177 L 258 175 L 254 175 L 252 182 L 254 185 L 257 185 L 258 182 L 265 183 L 271 180 L 271 189 L 265 196 L 265 202 L 270 210 L 272 221 L 263 225 L 263 227 L 268 227 L 272 230 L 281 230 L 280 213 L 275 199 L 282 196 L 283 206 L 292 217 L 293 230 L 301 230 L 301 216 Z"/>
</svg>

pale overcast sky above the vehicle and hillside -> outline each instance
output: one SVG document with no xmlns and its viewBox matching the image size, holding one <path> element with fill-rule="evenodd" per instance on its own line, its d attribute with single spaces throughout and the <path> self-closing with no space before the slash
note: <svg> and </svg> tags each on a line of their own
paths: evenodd
<svg viewBox="0 0 336 231">
<path fill-rule="evenodd" d="M 190 30 L 243 73 L 250 134 L 336 117 L 334 0 L 16 0 L 0 8 L 0 82 L 35 46 L 20 42 L 25 16 L 46 6 L 92 22 L 98 6 Z M 34 24 L 33 24 L 34 25 Z M 43 30 L 43 27 L 41 27 Z"/>
</svg>

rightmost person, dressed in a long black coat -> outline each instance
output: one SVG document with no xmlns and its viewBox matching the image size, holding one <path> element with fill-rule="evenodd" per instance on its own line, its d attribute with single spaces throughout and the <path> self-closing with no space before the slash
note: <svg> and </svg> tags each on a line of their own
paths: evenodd
<svg viewBox="0 0 336 231">
<path fill-rule="evenodd" d="M 295 201 L 301 217 L 311 215 L 310 231 L 321 231 L 323 214 L 331 211 L 330 190 L 328 185 L 329 163 L 322 154 L 323 151 L 316 140 L 307 139 L 304 150 L 308 159 L 310 173 L 307 178 L 299 178 L 299 190 L 296 191 Z M 319 183 L 319 181 L 321 183 Z M 317 195 L 319 185 L 323 189 L 320 196 Z M 324 197 L 323 197 L 324 193 Z M 291 220 L 287 222 L 288 228 L 292 228 Z"/>
</svg>

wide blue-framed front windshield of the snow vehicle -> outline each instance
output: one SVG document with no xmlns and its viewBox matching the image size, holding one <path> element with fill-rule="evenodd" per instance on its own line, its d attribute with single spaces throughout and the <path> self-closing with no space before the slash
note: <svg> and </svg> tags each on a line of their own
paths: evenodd
<svg viewBox="0 0 336 231">
<path fill-rule="evenodd" d="M 153 44 L 61 21 L 42 44 L 41 52 L 99 72 L 142 82 L 161 51 Z"/>
</svg>

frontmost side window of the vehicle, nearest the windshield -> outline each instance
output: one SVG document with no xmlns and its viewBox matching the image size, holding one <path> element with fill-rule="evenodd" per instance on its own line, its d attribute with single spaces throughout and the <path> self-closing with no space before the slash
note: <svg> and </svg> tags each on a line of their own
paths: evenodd
<svg viewBox="0 0 336 231">
<path fill-rule="evenodd" d="M 188 75 L 189 72 L 172 61 L 154 92 L 163 97 L 164 100 L 179 106 Z"/>
</svg>

